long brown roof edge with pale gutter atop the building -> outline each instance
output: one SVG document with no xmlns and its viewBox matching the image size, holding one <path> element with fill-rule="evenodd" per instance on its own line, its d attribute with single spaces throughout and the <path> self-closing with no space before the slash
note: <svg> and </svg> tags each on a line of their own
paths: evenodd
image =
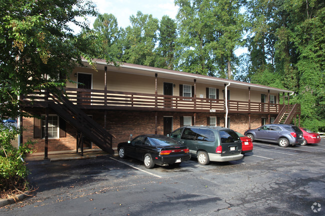
<svg viewBox="0 0 325 216">
<path fill-rule="evenodd" d="M 110 69 L 115 67 L 113 64 L 107 64 L 104 59 L 93 59 L 92 61 L 97 64 L 98 69 L 103 70 L 104 66 L 107 66 Z M 83 62 L 86 63 L 87 60 L 84 59 Z M 134 74 L 137 73 L 136 71 L 145 71 L 145 72 L 151 72 L 150 76 L 154 76 L 154 74 L 157 73 L 158 77 L 159 77 L 159 74 L 160 74 L 160 76 L 162 76 L 162 75 L 172 76 L 172 77 L 177 76 L 178 78 L 176 78 L 176 79 L 184 80 L 184 81 L 185 80 L 193 81 L 193 79 L 196 79 L 197 82 L 207 82 L 207 83 L 208 82 L 209 83 L 217 82 L 219 85 L 230 83 L 229 88 L 235 87 L 235 88 L 248 89 L 248 87 L 250 87 L 252 90 L 260 90 L 260 91 L 270 90 L 270 92 L 276 92 L 276 93 L 283 93 L 283 92 L 291 93 L 291 94 L 293 93 L 293 91 L 289 91 L 289 90 L 285 90 L 285 89 L 279 89 L 279 88 L 269 87 L 269 86 L 265 86 L 265 85 L 240 82 L 240 81 L 236 81 L 236 80 L 229 80 L 229 79 L 212 77 L 212 76 L 205 76 L 205 75 L 200 75 L 200 74 L 195 74 L 195 73 L 188 73 L 188 72 L 182 72 L 182 71 L 176 71 L 176 70 L 168 70 L 168 69 L 163 69 L 163 68 L 123 63 L 123 62 L 117 62 L 117 63 L 119 65 L 118 68 L 131 69 L 131 70 L 133 70 Z M 115 70 L 117 70 L 118 68 L 116 68 Z M 118 70 L 120 70 L 120 69 L 118 69 Z M 120 71 L 120 72 L 122 72 L 122 71 Z M 171 78 L 171 79 L 173 79 L 173 78 Z"/>
</svg>

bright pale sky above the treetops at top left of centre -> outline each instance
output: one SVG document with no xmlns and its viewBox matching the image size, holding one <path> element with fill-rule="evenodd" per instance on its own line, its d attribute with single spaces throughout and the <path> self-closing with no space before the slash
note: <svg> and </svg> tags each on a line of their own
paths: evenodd
<svg viewBox="0 0 325 216">
<path fill-rule="evenodd" d="M 117 18 L 118 27 L 125 28 L 130 25 L 129 17 L 136 15 L 139 10 L 143 14 L 152 14 L 159 21 L 163 15 L 175 19 L 178 6 L 174 0 L 92 0 L 97 5 L 98 12 L 112 13 Z M 90 18 L 90 26 L 95 17 Z"/>
</svg>

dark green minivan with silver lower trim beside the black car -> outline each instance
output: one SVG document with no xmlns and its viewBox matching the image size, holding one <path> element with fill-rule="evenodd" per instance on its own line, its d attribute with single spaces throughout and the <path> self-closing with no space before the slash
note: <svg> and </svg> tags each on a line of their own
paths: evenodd
<svg viewBox="0 0 325 216">
<path fill-rule="evenodd" d="M 202 165 L 210 161 L 235 161 L 242 158 L 241 141 L 228 128 L 186 126 L 173 131 L 170 138 L 186 145 L 191 156 L 196 157 Z"/>
</svg>

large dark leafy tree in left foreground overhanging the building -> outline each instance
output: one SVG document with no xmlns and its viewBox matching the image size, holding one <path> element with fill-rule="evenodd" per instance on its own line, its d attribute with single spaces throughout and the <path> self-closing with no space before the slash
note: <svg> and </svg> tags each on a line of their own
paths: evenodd
<svg viewBox="0 0 325 216">
<path fill-rule="evenodd" d="M 100 56 L 96 34 L 84 21 L 75 17 L 97 15 L 94 5 L 84 0 L 0 0 L 0 120 L 29 116 L 20 112 L 18 97 L 30 94 L 35 89 L 56 90 L 63 87 L 81 57 L 90 59 Z M 73 23 L 82 31 L 73 34 L 69 25 Z M 46 76 L 44 75 L 46 74 Z M 8 147 L 15 130 L 1 126 L 0 158 L 11 160 L 23 154 L 19 149 Z M 10 152 L 10 154 L 6 154 Z M 15 163 L 15 162 L 13 162 Z M 6 168 L 1 167 L 0 182 L 6 178 Z M 11 176 L 25 177 L 26 172 Z M 3 185 L 1 185 L 3 187 Z"/>
</svg>

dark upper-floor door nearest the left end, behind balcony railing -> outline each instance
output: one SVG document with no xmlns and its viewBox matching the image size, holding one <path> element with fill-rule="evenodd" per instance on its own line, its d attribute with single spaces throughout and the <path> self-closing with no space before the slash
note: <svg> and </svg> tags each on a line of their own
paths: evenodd
<svg viewBox="0 0 325 216">
<path fill-rule="evenodd" d="M 81 99 L 81 104 L 83 105 L 90 105 L 91 103 L 91 92 L 87 91 L 86 89 L 91 89 L 91 80 L 92 80 L 92 74 L 87 73 L 78 73 L 78 84 L 77 88 L 84 89 L 85 91 L 79 91 L 79 96 Z M 88 99 L 89 98 L 89 99 Z"/>
</svg>

